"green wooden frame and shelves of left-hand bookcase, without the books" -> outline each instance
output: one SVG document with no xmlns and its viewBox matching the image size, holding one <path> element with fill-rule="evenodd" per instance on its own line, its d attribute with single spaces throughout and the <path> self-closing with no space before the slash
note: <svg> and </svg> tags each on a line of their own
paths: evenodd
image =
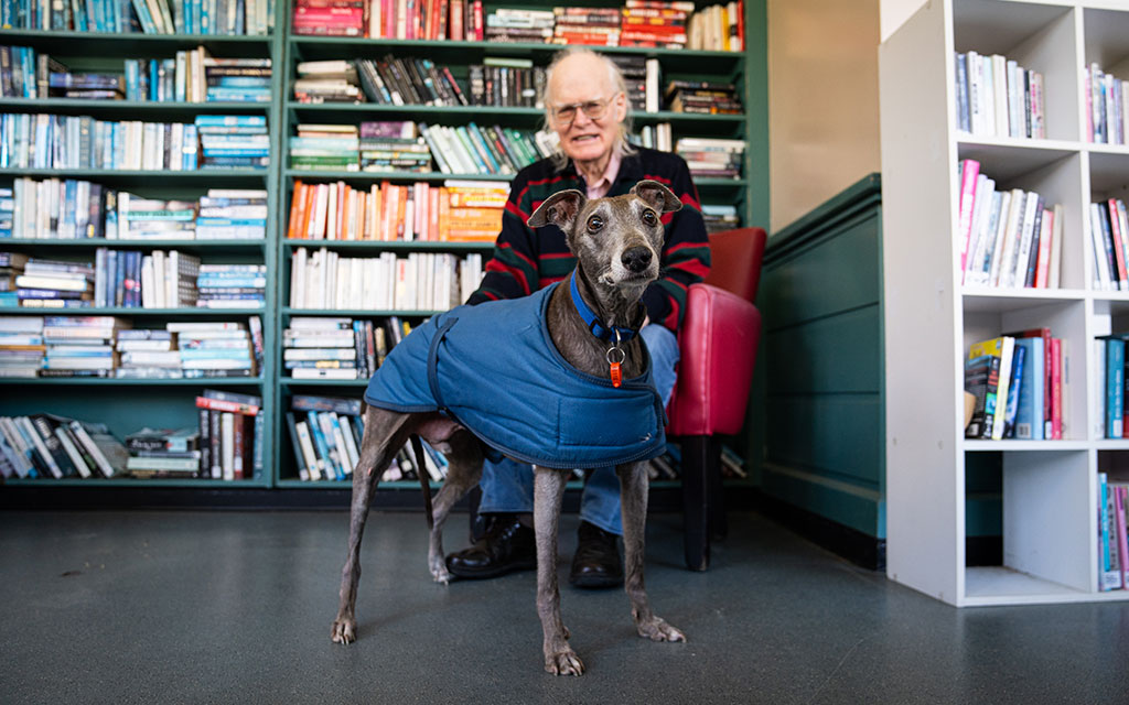
<svg viewBox="0 0 1129 705">
<path fill-rule="evenodd" d="M 283 86 L 281 34 L 272 36 L 212 35 L 143 35 L 77 32 L 42 32 L 0 29 L 0 44 L 30 46 L 63 61 L 72 70 L 121 72 L 123 60 L 135 58 L 172 58 L 177 51 L 204 46 L 219 58 L 270 58 L 272 94 L 280 95 Z M 0 98 L 0 113 L 46 113 L 90 115 L 98 120 L 142 120 L 147 122 L 191 122 L 199 114 L 265 115 L 271 135 L 271 165 L 255 169 L 200 169 L 193 171 L 110 170 L 110 169 L 0 169 L 0 182 L 16 177 L 34 179 L 73 178 L 125 190 L 147 197 L 196 199 L 208 188 L 264 188 L 268 192 L 266 237 L 262 240 L 129 240 L 129 239 L 28 239 L 0 240 L 0 248 L 32 256 L 93 262 L 99 247 L 114 249 L 177 249 L 200 256 L 205 263 L 255 263 L 268 265 L 266 302 L 262 308 L 86 308 L 38 309 L 0 308 L 0 315 L 34 316 L 113 315 L 131 319 L 135 327 L 160 327 L 170 320 L 246 320 L 259 316 L 263 323 L 265 347 L 272 349 L 278 336 L 273 264 L 278 248 L 277 213 L 279 199 L 278 139 L 280 105 L 270 103 L 156 103 L 137 100 L 87 100 L 65 98 Z M 253 394 L 263 398 L 263 470 L 257 477 L 238 482 L 203 478 L 145 479 L 131 477 L 89 479 L 11 479 L 11 487 L 86 488 L 86 487 L 175 487 L 175 488 L 266 488 L 272 485 L 271 468 L 275 462 L 271 430 L 277 425 L 274 396 L 274 360 L 264 356 L 259 376 L 216 379 L 116 379 L 116 378 L 36 378 L 0 379 L 0 415 L 52 413 L 90 422 L 105 423 L 123 439 L 142 426 L 183 428 L 198 423 L 193 399 L 205 388 L 219 388 Z"/>
</svg>

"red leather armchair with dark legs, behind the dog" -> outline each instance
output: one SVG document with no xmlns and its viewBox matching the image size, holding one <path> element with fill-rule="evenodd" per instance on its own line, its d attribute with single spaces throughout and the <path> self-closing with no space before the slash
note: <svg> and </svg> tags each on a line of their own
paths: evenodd
<svg viewBox="0 0 1129 705">
<path fill-rule="evenodd" d="M 749 403 L 761 314 L 753 301 L 767 235 L 742 228 L 710 236 L 712 266 L 690 287 L 679 334 L 682 360 L 667 406 L 667 434 L 682 443 L 686 566 L 709 567 L 709 546 L 724 526 L 720 442 L 741 431 Z"/>
</svg>

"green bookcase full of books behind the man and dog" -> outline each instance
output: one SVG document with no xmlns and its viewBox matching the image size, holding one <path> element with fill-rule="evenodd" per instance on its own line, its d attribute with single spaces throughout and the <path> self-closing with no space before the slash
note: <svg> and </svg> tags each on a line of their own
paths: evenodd
<svg viewBox="0 0 1129 705">
<path fill-rule="evenodd" d="M 701 36 L 686 49 L 688 3 L 586 5 L 595 7 L 429 0 L 390 14 L 386 3 L 364 0 L 332 12 L 290 3 L 279 188 L 289 206 L 278 253 L 279 486 L 340 487 L 349 479 L 371 370 L 412 326 L 476 288 L 509 180 L 554 148 L 537 97 L 563 42 L 599 35 L 598 49 L 629 77 L 644 143 L 681 150 L 676 138 L 719 139 L 717 164 L 692 165 L 701 170 L 695 183 L 719 206 L 711 212 L 717 227 L 747 220 L 747 124 L 737 98 L 745 60 L 736 23 L 729 51 L 701 49 Z M 734 17 L 743 15 L 738 7 L 729 6 Z M 711 27 L 728 26 L 717 12 L 710 10 Z M 634 26 L 644 16 L 650 30 Z M 592 32 L 574 27 L 584 24 Z M 710 29 L 712 41 L 717 32 Z M 699 100 L 690 88 L 675 89 L 690 80 L 709 80 L 702 88 L 719 92 Z M 662 95 L 660 81 L 669 94 Z M 444 462 L 428 452 L 423 470 L 434 483 Z M 384 481 L 417 487 L 414 465 L 401 453 Z"/>
</svg>

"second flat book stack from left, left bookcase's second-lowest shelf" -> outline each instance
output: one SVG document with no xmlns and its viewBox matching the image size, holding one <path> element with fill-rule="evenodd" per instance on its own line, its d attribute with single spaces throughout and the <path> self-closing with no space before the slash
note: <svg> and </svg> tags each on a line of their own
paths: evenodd
<svg viewBox="0 0 1129 705">
<path fill-rule="evenodd" d="M 114 341 L 128 320 L 115 316 L 45 316 L 46 354 L 40 377 L 111 377 L 117 364 Z"/>
</svg>

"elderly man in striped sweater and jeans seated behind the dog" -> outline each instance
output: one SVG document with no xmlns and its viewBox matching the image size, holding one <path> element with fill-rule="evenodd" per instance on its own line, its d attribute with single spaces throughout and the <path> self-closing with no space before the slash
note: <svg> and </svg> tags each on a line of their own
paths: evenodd
<svg viewBox="0 0 1129 705">
<path fill-rule="evenodd" d="M 511 299 L 563 280 L 576 266 L 564 235 L 555 226 L 536 230 L 526 219 L 550 194 L 586 191 L 589 199 L 628 193 L 640 179 L 667 185 L 684 208 L 664 218 L 666 243 L 662 276 L 644 293 L 647 323 L 641 336 L 650 351 L 654 379 L 663 402 L 675 382 L 686 288 L 709 271 L 709 244 L 698 193 L 685 161 L 676 155 L 633 148 L 627 141 L 625 83 L 615 64 L 587 49 L 569 49 L 549 67 L 545 121 L 560 136 L 560 151 L 514 177 L 502 230 L 487 274 L 469 303 Z M 688 206 L 688 208 L 686 208 Z M 513 460 L 487 461 L 482 502 L 485 536 L 447 556 L 461 578 L 493 578 L 536 567 L 533 532 L 533 470 Z M 619 554 L 620 490 L 615 469 L 596 469 L 580 501 L 580 529 L 569 580 L 583 588 L 622 584 Z"/>
</svg>

